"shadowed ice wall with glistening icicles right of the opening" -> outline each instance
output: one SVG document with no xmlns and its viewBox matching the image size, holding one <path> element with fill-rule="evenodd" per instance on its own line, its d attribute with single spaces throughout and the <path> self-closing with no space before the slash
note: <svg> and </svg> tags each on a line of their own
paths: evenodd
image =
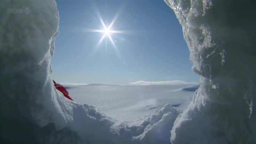
<svg viewBox="0 0 256 144">
<path fill-rule="evenodd" d="M 173 144 L 256 143 L 255 2 L 165 0 L 182 26 L 200 87 Z"/>
</svg>

